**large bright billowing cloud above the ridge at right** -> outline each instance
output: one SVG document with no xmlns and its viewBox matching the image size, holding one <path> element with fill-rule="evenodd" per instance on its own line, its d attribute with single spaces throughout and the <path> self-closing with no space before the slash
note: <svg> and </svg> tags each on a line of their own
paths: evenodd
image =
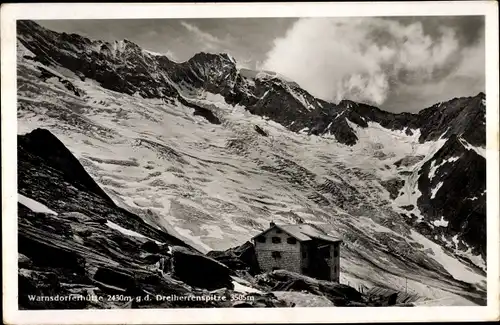
<svg viewBox="0 0 500 325">
<path fill-rule="evenodd" d="M 484 79 L 482 46 L 464 47 L 456 30 L 446 25 L 430 36 L 419 21 L 304 18 L 274 41 L 263 68 L 326 100 L 382 105 L 395 102 L 390 97 L 397 91 L 445 85 L 448 78 L 460 79 L 459 74 Z"/>
</svg>

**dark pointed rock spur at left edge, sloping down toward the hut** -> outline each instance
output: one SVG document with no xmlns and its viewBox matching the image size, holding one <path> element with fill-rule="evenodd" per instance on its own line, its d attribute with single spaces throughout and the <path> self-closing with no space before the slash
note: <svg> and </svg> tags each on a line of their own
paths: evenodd
<svg viewBox="0 0 500 325">
<path fill-rule="evenodd" d="M 139 216 L 116 206 L 50 131 L 35 129 L 18 136 L 17 156 L 20 194 L 56 213 L 83 213 L 99 222 L 116 221 L 159 241 L 186 246 L 180 239 L 158 231 Z"/>
</svg>

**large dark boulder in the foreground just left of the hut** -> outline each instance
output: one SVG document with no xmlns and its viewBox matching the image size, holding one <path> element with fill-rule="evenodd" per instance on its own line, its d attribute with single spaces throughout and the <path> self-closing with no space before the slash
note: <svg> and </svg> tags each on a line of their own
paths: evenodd
<svg viewBox="0 0 500 325">
<path fill-rule="evenodd" d="M 233 286 L 227 266 L 181 246 L 172 247 L 172 268 L 176 278 L 194 287 L 214 290 Z"/>
</svg>

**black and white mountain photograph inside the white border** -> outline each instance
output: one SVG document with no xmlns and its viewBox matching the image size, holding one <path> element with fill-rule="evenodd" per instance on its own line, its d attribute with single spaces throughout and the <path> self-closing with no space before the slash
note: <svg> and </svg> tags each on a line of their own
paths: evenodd
<svg viewBox="0 0 500 325">
<path fill-rule="evenodd" d="M 498 307 L 486 15 L 334 14 L 16 18 L 11 303 Z"/>
</svg>

